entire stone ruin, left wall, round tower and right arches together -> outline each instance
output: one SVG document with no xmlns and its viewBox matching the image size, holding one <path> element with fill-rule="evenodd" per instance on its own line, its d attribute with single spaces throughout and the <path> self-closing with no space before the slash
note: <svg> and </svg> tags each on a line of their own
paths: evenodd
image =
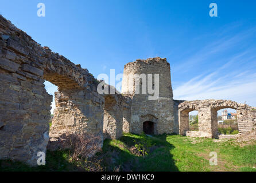
<svg viewBox="0 0 256 183">
<path fill-rule="evenodd" d="M 123 132 L 218 138 L 217 111 L 224 108 L 237 110 L 240 134 L 256 128 L 256 109 L 248 105 L 226 100 L 173 100 L 170 65 L 165 58 L 127 63 L 122 94 L 99 94 L 100 81 L 87 69 L 41 47 L 1 15 L 0 59 L 0 159 L 36 165 L 38 152 L 63 148 L 66 133 L 98 137 L 99 150 L 104 138 L 116 139 Z M 135 93 L 134 81 L 127 77 L 143 73 L 160 74 L 157 100 L 148 100 L 148 93 Z M 45 80 L 58 86 L 51 129 L 52 96 L 45 90 Z M 128 85 L 130 82 L 133 85 Z M 188 129 L 192 110 L 199 111 L 199 132 Z"/>
</svg>

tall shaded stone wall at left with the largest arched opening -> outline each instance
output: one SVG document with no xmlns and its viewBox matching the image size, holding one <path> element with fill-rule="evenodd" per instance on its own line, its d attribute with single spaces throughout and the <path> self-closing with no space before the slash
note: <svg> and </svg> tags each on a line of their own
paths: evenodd
<svg viewBox="0 0 256 183">
<path fill-rule="evenodd" d="M 81 132 L 80 126 L 88 126 L 88 131 L 99 132 L 102 137 L 103 113 L 99 112 L 102 98 L 96 93 L 96 79 L 87 69 L 48 47 L 41 47 L 1 15 L 0 59 L 0 159 L 36 165 L 37 153 L 46 153 L 52 96 L 46 93 L 45 79 L 68 97 L 67 104 L 57 101 L 53 129 L 73 130 L 74 126 L 70 125 L 73 123 L 77 132 Z M 87 92 L 81 96 L 80 91 Z M 63 125 L 59 125 L 56 117 L 60 117 Z M 67 125 L 65 117 L 69 117 Z M 92 124 L 98 124 L 95 131 Z M 55 132 L 59 133 L 53 130 L 51 134 L 57 137 Z"/>
</svg>

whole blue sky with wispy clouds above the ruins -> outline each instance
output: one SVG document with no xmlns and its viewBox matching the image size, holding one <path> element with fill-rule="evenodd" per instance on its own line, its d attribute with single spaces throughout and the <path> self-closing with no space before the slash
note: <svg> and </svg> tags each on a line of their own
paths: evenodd
<svg viewBox="0 0 256 183">
<path fill-rule="evenodd" d="M 37 3 L 45 17 L 37 17 Z M 218 17 L 209 5 L 218 5 Z M 256 1 L 2 1 L 0 13 L 95 77 L 167 58 L 174 99 L 256 106 Z M 57 88 L 46 82 L 53 94 Z"/>
</svg>

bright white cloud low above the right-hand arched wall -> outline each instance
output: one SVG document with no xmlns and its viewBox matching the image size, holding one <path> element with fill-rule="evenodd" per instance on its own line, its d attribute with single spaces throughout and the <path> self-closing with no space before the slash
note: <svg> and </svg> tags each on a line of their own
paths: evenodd
<svg viewBox="0 0 256 183">
<path fill-rule="evenodd" d="M 218 78 L 216 77 L 218 72 L 192 78 L 176 87 L 173 90 L 174 98 L 177 100 L 226 99 L 256 106 L 255 73 L 234 71 Z"/>
</svg>

